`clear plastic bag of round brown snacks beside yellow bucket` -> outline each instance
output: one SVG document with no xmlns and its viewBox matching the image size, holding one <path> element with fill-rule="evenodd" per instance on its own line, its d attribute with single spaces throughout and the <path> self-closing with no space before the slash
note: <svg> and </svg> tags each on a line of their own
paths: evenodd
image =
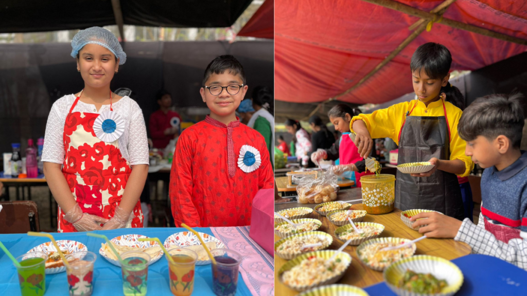
<svg viewBox="0 0 527 296">
<path fill-rule="evenodd" d="M 338 176 L 333 170 L 319 173 L 317 179 L 302 179 L 297 186 L 299 203 L 323 203 L 337 199 Z"/>
</svg>

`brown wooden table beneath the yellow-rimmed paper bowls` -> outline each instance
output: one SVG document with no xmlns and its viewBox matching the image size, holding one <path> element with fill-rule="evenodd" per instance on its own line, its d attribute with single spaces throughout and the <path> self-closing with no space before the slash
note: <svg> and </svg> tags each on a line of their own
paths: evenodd
<svg viewBox="0 0 527 296">
<path fill-rule="evenodd" d="M 354 188 L 344 190 L 344 192 L 339 192 L 339 195 L 340 196 L 337 200 L 358 199 L 360 198 L 360 189 Z M 300 205 L 298 203 L 280 203 L 275 205 L 275 211 L 294 208 L 296 206 L 309 206 L 310 208 L 314 208 L 316 204 Z M 354 204 L 352 206 L 352 209 L 363 210 L 363 206 L 362 204 Z M 422 236 L 417 231 L 409 229 L 408 226 L 403 223 L 403 221 L 401 220 L 401 212 L 401 210 L 395 209 L 393 212 L 383 215 L 368 214 L 366 215 L 364 222 L 375 222 L 383 224 L 385 226 L 385 229 L 383 233 L 379 236 L 381 238 L 395 236 L 397 238 L 413 240 Z M 318 231 L 324 231 L 333 236 L 333 244 L 329 246 L 329 250 L 337 250 L 343 244 L 343 242 L 338 240 L 334 234 L 338 226 L 329 222 L 329 220 L 325 216 L 321 216 L 317 212 L 313 212 L 307 218 L 314 218 L 320 220 L 322 222 L 322 226 L 320 226 Z M 280 238 L 275 235 L 275 241 L 278 240 L 280 240 Z M 425 239 L 417 242 L 416 244 L 416 255 L 426 254 L 438 256 L 447 260 L 456 259 L 471 252 L 471 248 L 469 245 L 463 242 L 456 242 L 453 239 Z M 363 288 L 369 285 L 382 282 L 384 280 L 383 273 L 380 271 L 369 269 L 368 267 L 366 267 L 366 265 L 360 262 L 357 258 L 356 249 L 357 246 L 347 246 L 346 249 L 344 249 L 344 251 L 352 255 L 353 259 L 352 264 L 350 264 L 349 268 L 346 270 L 344 277 L 340 281 L 338 281 L 338 283 L 350 284 Z M 275 255 L 275 294 L 280 296 L 297 295 L 299 294 L 298 292 L 289 289 L 278 279 L 278 271 L 286 262 L 287 260 L 281 259 L 279 256 Z"/>
</svg>

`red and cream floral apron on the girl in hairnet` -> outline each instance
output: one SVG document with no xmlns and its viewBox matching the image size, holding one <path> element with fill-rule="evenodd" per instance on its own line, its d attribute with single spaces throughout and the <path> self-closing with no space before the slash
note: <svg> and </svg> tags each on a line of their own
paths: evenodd
<svg viewBox="0 0 527 296">
<path fill-rule="evenodd" d="M 119 140 L 105 143 L 95 135 L 93 122 L 96 113 L 74 112 L 80 95 L 71 106 L 64 124 L 64 164 L 62 173 L 73 197 L 87 214 L 110 219 L 121 203 L 124 188 L 132 169 L 119 150 Z M 110 96 L 110 111 L 113 111 Z M 126 228 L 143 227 L 141 202 L 133 209 L 134 217 Z M 58 232 L 76 232 L 72 223 L 64 220 L 58 207 Z M 102 224 L 101 224 L 102 225 Z"/>
</svg>

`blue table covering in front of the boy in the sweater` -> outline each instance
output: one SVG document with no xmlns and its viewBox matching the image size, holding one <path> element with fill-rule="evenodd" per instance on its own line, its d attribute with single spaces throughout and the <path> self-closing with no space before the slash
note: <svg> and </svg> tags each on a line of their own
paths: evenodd
<svg viewBox="0 0 527 296">
<path fill-rule="evenodd" d="M 527 271 L 492 256 L 470 254 L 452 260 L 463 272 L 456 296 L 527 295 Z M 396 295 L 385 282 L 366 289 L 370 296 Z"/>
</svg>

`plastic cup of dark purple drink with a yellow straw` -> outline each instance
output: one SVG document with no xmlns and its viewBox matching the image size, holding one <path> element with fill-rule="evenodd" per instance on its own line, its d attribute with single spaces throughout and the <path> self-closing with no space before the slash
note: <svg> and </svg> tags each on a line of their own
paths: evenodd
<svg viewBox="0 0 527 296">
<path fill-rule="evenodd" d="M 218 296 L 233 296 L 238 287 L 238 271 L 241 255 L 229 249 L 210 251 L 216 264 L 212 266 L 212 290 Z"/>
</svg>

